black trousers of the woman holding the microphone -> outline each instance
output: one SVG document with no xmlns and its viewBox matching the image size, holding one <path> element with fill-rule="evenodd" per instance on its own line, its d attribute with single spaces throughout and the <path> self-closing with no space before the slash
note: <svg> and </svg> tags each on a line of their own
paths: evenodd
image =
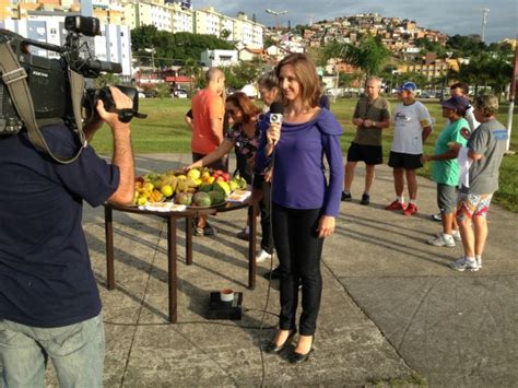
<svg viewBox="0 0 518 388">
<path fill-rule="evenodd" d="M 320 209 L 298 210 L 272 204 L 273 240 L 281 271 L 281 330 L 296 329 L 298 284 L 302 282 L 299 333 L 313 336 L 322 295 L 320 258 L 323 238 L 318 238 Z"/>
</svg>

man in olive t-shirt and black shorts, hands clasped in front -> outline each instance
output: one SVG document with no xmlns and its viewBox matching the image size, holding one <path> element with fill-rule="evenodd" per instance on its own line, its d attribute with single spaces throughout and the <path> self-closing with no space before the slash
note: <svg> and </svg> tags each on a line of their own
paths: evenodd
<svg viewBox="0 0 518 388">
<path fill-rule="evenodd" d="M 367 95 L 358 99 L 353 114 L 353 124 L 356 126 L 356 136 L 348 150 L 345 164 L 344 188 L 342 201 L 351 201 L 351 185 L 354 179 L 354 169 L 357 162 L 365 162 L 365 187 L 361 204 L 369 204 L 370 186 L 374 181 L 374 167 L 381 164 L 381 131 L 390 126 L 389 103 L 379 95 L 381 80 L 370 77 L 366 83 Z"/>
</svg>

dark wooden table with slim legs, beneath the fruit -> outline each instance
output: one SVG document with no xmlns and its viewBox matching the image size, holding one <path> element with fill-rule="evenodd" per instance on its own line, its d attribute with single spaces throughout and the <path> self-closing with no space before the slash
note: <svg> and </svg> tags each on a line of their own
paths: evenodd
<svg viewBox="0 0 518 388">
<path fill-rule="evenodd" d="M 115 266 L 114 266 L 114 225 L 113 212 L 136 213 L 157 216 L 167 221 L 167 282 L 169 296 L 169 322 L 176 322 L 177 315 L 177 287 L 178 277 L 176 268 L 176 222 L 178 219 L 186 220 L 186 263 L 192 264 L 192 220 L 203 214 L 216 214 L 248 209 L 250 220 L 250 239 L 248 242 L 248 289 L 256 287 L 256 238 L 257 238 L 257 201 L 250 200 L 245 203 L 226 203 L 219 208 L 188 208 L 181 212 L 157 212 L 140 210 L 136 207 L 121 207 L 113 203 L 104 203 L 105 233 L 106 233 L 106 272 L 108 290 L 115 289 Z"/>
</svg>

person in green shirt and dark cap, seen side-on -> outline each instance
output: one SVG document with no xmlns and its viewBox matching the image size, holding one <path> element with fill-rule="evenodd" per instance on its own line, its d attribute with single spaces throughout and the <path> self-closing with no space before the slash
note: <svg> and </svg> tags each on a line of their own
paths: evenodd
<svg viewBox="0 0 518 388">
<path fill-rule="evenodd" d="M 434 154 L 421 157 L 422 162 L 434 162 L 432 179 L 437 183 L 437 205 L 443 220 L 443 232 L 438 233 L 436 238 L 428 239 L 427 243 L 437 247 L 455 247 L 455 240 L 460 240 L 460 233 L 455 221 L 460 168 L 457 152 L 450 150 L 448 143 L 456 142 L 463 146 L 468 142 L 470 126 L 463 116 L 470 104 L 462 96 L 452 96 L 440 105 L 443 117 L 448 120 L 447 125 L 437 138 Z"/>
</svg>

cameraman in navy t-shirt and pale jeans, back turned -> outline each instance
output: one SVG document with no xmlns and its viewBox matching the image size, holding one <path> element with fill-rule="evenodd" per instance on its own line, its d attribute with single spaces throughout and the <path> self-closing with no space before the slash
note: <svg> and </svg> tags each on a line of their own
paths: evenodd
<svg viewBox="0 0 518 388">
<path fill-rule="evenodd" d="M 110 87 L 117 108 L 132 102 Z M 7 387 L 43 387 L 48 357 L 61 387 L 101 387 L 104 326 L 101 298 L 81 226 L 82 201 L 128 204 L 134 162 L 130 125 L 104 109 L 85 128 L 92 139 L 103 121 L 114 137 L 113 164 L 87 145 L 71 164 L 38 152 L 27 132 L 0 137 L 0 364 Z M 42 129 L 60 155 L 75 152 L 72 131 Z"/>
</svg>

